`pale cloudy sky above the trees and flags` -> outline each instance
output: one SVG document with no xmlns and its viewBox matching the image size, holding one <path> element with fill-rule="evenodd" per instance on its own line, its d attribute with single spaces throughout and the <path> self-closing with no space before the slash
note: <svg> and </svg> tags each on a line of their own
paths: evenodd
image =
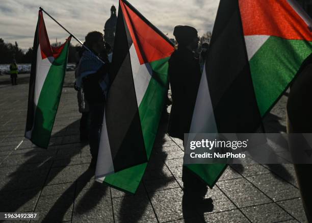
<svg viewBox="0 0 312 223">
<path fill-rule="evenodd" d="M 103 32 L 110 8 L 118 0 L 0 0 L 0 38 L 18 42 L 27 49 L 33 45 L 39 6 L 54 16 L 77 38 L 84 40 L 89 31 Z M 219 0 L 129 0 L 151 23 L 172 38 L 174 26 L 194 26 L 199 35 L 212 31 Z M 53 43 L 68 36 L 53 20 L 44 15 L 46 29 Z M 77 42 L 72 40 L 73 44 Z"/>
</svg>

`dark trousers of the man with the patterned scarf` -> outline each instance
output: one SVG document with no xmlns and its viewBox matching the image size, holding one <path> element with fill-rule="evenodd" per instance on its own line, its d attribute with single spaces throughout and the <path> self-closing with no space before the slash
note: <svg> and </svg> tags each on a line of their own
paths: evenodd
<svg viewBox="0 0 312 223">
<path fill-rule="evenodd" d="M 89 103 L 90 129 L 89 144 L 92 162 L 96 162 L 100 141 L 105 103 Z"/>
</svg>

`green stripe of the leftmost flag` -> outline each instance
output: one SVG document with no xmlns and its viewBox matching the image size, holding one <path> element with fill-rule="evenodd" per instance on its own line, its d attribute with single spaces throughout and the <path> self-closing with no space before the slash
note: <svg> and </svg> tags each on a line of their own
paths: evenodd
<svg viewBox="0 0 312 223">
<path fill-rule="evenodd" d="M 59 107 L 66 72 L 68 46 L 69 42 L 64 46 L 60 56 L 51 64 L 40 92 L 35 111 L 32 141 L 41 147 L 48 146 Z"/>
</svg>

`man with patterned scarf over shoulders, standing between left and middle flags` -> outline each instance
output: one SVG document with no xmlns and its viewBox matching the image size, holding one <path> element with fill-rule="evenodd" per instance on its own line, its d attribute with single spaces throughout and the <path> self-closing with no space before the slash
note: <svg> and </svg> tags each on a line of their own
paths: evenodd
<svg viewBox="0 0 312 223">
<path fill-rule="evenodd" d="M 91 122 L 89 129 L 89 144 L 92 156 L 90 167 L 95 168 L 105 107 L 105 94 L 109 85 L 109 76 L 107 75 L 109 61 L 107 60 L 107 56 L 101 58 L 105 62 L 105 64 L 103 64 L 96 57 L 105 51 L 103 35 L 100 32 L 94 31 L 88 33 L 85 44 L 91 49 L 92 53 L 87 50 L 84 51 L 77 68 L 76 83 L 79 87 L 82 84 L 85 100 L 89 104 Z"/>
</svg>

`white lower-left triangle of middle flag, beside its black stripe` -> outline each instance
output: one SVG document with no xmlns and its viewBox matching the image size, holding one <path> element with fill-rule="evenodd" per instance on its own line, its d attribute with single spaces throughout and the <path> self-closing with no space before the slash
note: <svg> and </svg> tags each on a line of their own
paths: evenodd
<svg viewBox="0 0 312 223">
<path fill-rule="evenodd" d="M 114 164 L 111 153 L 110 141 L 108 138 L 106 118 L 104 112 L 103 125 L 98 148 L 98 156 L 95 170 L 95 180 L 100 181 L 100 178 L 114 173 Z"/>
</svg>

